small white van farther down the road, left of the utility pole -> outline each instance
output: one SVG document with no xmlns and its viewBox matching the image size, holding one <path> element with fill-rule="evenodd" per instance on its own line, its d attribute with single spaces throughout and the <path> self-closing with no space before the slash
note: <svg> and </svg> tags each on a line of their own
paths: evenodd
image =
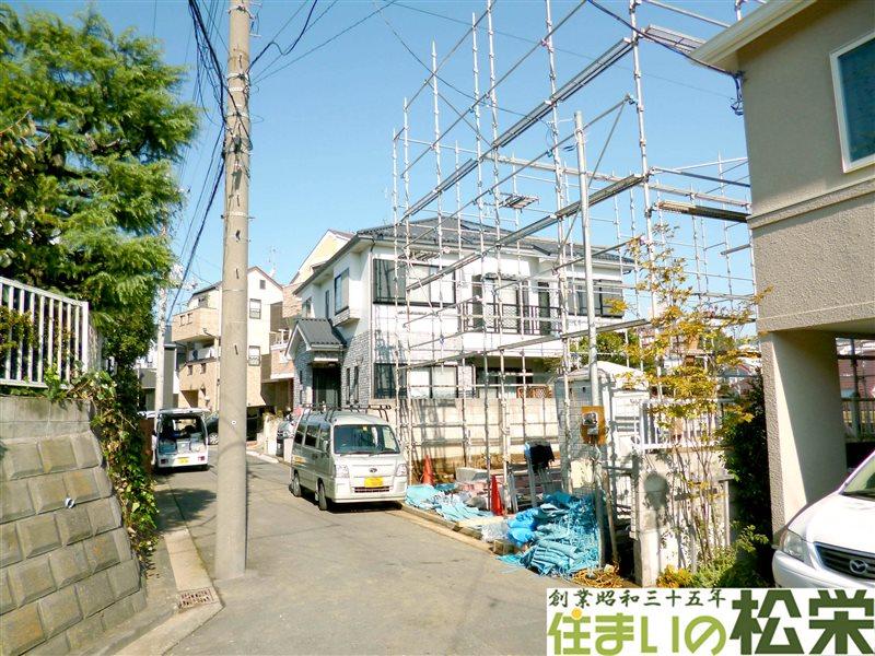
<svg viewBox="0 0 875 656">
<path fill-rule="evenodd" d="M 152 433 L 152 468 L 209 468 L 206 412 L 198 409 L 161 410 Z"/>
</svg>

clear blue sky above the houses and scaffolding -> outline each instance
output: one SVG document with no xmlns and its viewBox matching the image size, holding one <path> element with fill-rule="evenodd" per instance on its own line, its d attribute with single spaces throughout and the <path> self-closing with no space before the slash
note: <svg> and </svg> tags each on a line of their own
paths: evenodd
<svg viewBox="0 0 875 656">
<path fill-rule="evenodd" d="M 217 22 L 213 38 L 224 63 L 228 40 L 226 3 L 200 0 L 203 13 Z M 733 20 L 731 0 L 681 2 L 676 4 L 719 20 Z M 303 7 L 302 7 L 303 4 Z M 558 22 L 578 3 L 553 1 L 553 21 Z M 626 13 L 626 2 L 604 0 L 615 12 Z M 85 2 L 22 2 L 16 9 L 48 10 L 71 19 Z M 187 66 L 191 72 L 183 95 L 191 97 L 195 80 L 195 42 L 192 24 L 185 2 L 176 0 L 129 0 L 98 2 L 116 30 L 132 27 L 159 39 L 166 60 Z M 422 66 L 405 49 L 401 39 L 423 61 L 431 58 L 434 40 L 439 60 L 466 32 L 472 13 L 480 13 L 483 1 L 425 2 L 399 0 L 324 47 L 305 55 L 343 28 L 373 12 L 371 1 L 318 0 L 313 17 L 318 21 L 306 32 L 295 50 L 272 62 L 271 49 L 254 70 L 250 102 L 253 115 L 250 187 L 250 265 L 275 270 L 285 283 L 302 259 L 328 227 L 354 231 L 392 220 L 392 134 L 401 125 L 402 98 L 411 95 L 427 77 Z M 495 66 L 498 74 L 508 70 L 545 33 L 541 1 L 499 0 L 494 12 Z M 310 2 L 265 1 L 254 7 L 258 22 L 252 40 L 253 56 L 261 50 L 280 26 L 301 10 L 277 36 L 288 47 L 303 26 Z M 655 23 L 673 30 L 708 37 L 720 27 L 691 21 L 660 8 L 639 10 L 640 25 Z M 555 37 L 559 84 L 581 70 L 590 58 L 628 35 L 619 23 L 592 5 L 576 11 Z M 488 86 L 488 59 L 485 32 L 480 38 L 480 89 Z M 305 55 L 300 60 L 296 57 Z M 439 86 L 455 107 L 467 108 L 471 93 L 471 50 L 466 40 L 442 69 Z M 288 65 L 288 66 L 285 66 Z M 633 91 L 631 56 L 600 75 L 594 83 L 561 106 L 560 136 L 571 131 L 574 110 L 592 117 L 616 104 Z M 283 68 L 280 68 L 283 67 Z M 499 86 L 499 104 L 512 112 L 525 113 L 549 94 L 546 48 L 539 48 L 505 83 Z M 723 157 L 745 155 L 743 119 L 730 108 L 735 92 L 727 77 L 695 66 L 660 46 L 642 46 L 643 85 L 648 118 L 648 147 L 651 164 L 673 167 Z M 266 74 L 267 73 L 267 74 Z M 444 82 L 448 83 L 445 84 Z M 452 89 L 455 86 L 459 91 Z M 207 96 L 210 101 L 211 96 Z M 465 102 L 468 102 L 466 105 Z M 432 97 L 421 94 L 411 108 L 411 136 L 430 139 L 433 130 Z M 198 140 L 179 166 L 180 184 L 190 189 L 183 210 L 175 245 L 183 260 L 189 223 L 195 229 L 201 216 L 194 215 L 197 197 L 205 184 L 210 150 L 218 133 L 214 107 L 208 107 Z M 440 103 L 442 125 L 452 120 L 446 102 Z M 516 120 L 512 112 L 502 112 L 499 129 Z M 472 115 L 468 114 L 472 120 Z M 483 107 L 482 127 L 490 133 L 489 110 Z M 590 156 L 602 150 L 612 118 L 599 121 L 587 133 Z M 548 131 L 536 126 L 514 148 L 521 157 L 532 156 L 547 145 Z M 472 132 L 464 125 L 448 137 L 462 148 L 474 145 Z M 411 153 L 415 151 L 411 150 Z M 567 156 L 573 163 L 574 153 Z M 467 155 L 463 154 L 463 161 Z M 452 153 L 444 152 L 444 174 L 452 169 Z M 626 174 L 640 168 L 634 110 L 623 110 L 618 129 L 605 151 L 600 169 Z M 744 173 L 744 172 L 742 172 Z M 672 180 L 676 183 L 677 180 Z M 416 199 L 434 183 L 434 159 L 411 171 L 411 197 Z M 682 183 L 688 185 L 689 180 Z M 711 187 L 705 184 L 704 189 Z M 221 188 L 220 188 L 221 194 Z M 572 192 L 572 200 L 574 200 Z M 208 215 L 206 230 L 191 268 L 196 283 L 221 277 L 221 196 Z M 605 234 L 602 241 L 609 241 Z M 190 237 L 188 239 L 190 245 Z M 180 295 L 180 301 L 186 294 Z"/>
</svg>

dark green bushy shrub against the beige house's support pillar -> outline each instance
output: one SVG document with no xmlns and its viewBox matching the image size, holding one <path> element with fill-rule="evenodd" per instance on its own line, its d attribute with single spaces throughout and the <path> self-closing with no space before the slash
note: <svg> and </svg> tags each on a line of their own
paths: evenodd
<svg viewBox="0 0 875 656">
<path fill-rule="evenodd" d="M 735 509 L 738 522 L 757 532 L 771 534 L 769 449 L 766 437 L 766 401 L 762 376 L 751 378 L 750 389 L 723 418 L 726 470 L 738 483 Z"/>
</svg>

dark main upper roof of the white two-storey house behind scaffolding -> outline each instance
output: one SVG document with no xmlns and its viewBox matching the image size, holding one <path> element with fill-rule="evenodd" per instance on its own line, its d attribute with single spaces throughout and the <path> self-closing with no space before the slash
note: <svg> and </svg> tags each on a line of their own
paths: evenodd
<svg viewBox="0 0 875 656">
<path fill-rule="evenodd" d="M 466 220 L 458 220 L 455 216 L 444 216 L 442 220 L 439 221 L 436 216 L 432 216 L 429 219 L 419 219 L 417 221 L 410 221 L 410 242 L 413 243 L 416 247 L 438 247 L 438 227 L 441 227 L 441 244 L 446 247 L 453 247 L 454 245 L 458 244 L 459 237 L 462 239 L 462 247 L 468 250 L 478 250 L 482 243 L 482 246 L 489 248 L 490 246 L 494 246 L 495 242 L 498 241 L 495 237 L 495 233 L 491 231 L 488 226 L 483 226 L 479 223 L 475 223 L 472 221 Z M 460 230 L 459 230 L 460 227 Z M 444 231 L 446 233 L 444 234 Z M 503 231 L 502 235 L 506 235 L 508 232 Z M 394 224 L 384 224 L 377 225 L 375 227 L 365 227 L 355 233 L 353 238 L 347 242 L 342 248 L 340 248 L 337 253 L 335 253 L 327 261 L 322 263 L 319 267 L 314 267 L 313 273 L 299 284 L 294 292 L 301 293 L 301 291 L 313 282 L 316 278 L 318 278 L 323 270 L 334 265 L 335 261 L 343 257 L 350 249 L 352 249 L 355 244 L 363 239 L 370 239 L 372 242 L 387 242 L 389 244 L 395 243 L 396 241 L 400 242 L 401 239 L 406 239 L 406 235 L 397 234 L 397 230 Z M 482 242 L 481 242 L 482 238 Z M 559 255 L 559 248 L 556 239 L 548 239 L 545 237 L 523 237 L 520 239 L 520 246 L 525 248 L 526 250 L 533 250 L 544 257 L 557 257 Z M 576 246 L 583 247 L 578 242 L 569 241 L 570 244 L 574 244 Z M 509 246 L 508 250 L 512 247 Z M 593 248 L 600 248 L 597 245 L 593 245 Z M 603 253 L 593 258 L 595 261 L 608 261 L 608 262 L 619 262 L 620 256 L 615 255 L 611 253 Z"/>
</svg>

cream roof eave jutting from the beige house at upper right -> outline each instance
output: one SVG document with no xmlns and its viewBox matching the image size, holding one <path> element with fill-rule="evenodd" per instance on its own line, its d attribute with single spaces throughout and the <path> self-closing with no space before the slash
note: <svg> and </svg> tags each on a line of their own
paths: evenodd
<svg viewBox="0 0 875 656">
<path fill-rule="evenodd" d="M 738 50 L 771 32 L 816 0 L 774 0 L 757 8 L 692 51 L 692 58 L 726 71 L 738 70 Z"/>
</svg>

